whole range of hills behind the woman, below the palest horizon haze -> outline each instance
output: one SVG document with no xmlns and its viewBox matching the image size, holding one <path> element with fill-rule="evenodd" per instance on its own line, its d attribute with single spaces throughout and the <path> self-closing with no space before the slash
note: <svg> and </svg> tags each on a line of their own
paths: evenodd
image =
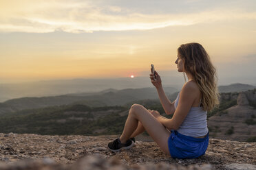
<svg viewBox="0 0 256 170">
<path fill-rule="evenodd" d="M 235 90 L 235 85 L 231 86 Z M 237 89 L 244 88 L 237 84 Z M 175 100 L 177 88 L 166 87 L 164 90 L 171 101 Z M 220 93 L 220 106 L 208 112 L 211 135 L 215 138 L 256 141 L 255 93 L 255 89 Z M 24 97 L 0 103 L 0 129 L 6 133 L 118 134 L 122 131 L 129 107 L 135 103 L 167 116 L 155 88 L 109 88 L 98 93 Z"/>
</svg>

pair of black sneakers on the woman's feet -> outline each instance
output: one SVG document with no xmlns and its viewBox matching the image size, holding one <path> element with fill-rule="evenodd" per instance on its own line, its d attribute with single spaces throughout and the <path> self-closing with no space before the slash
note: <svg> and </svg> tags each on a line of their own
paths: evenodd
<svg viewBox="0 0 256 170">
<path fill-rule="evenodd" d="M 134 142 L 131 139 L 128 139 L 126 143 L 121 143 L 120 139 L 117 138 L 115 141 L 107 145 L 111 151 L 120 151 L 121 149 L 130 149 L 134 146 Z"/>
</svg>

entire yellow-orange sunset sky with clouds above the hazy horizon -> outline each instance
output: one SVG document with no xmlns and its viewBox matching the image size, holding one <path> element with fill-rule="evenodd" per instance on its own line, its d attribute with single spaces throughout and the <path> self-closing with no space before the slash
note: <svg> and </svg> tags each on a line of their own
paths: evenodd
<svg viewBox="0 0 256 170">
<path fill-rule="evenodd" d="M 256 73 L 256 1 L 1 0 L 0 83 L 176 73 L 200 42 L 220 79 Z M 245 82 L 246 83 L 246 82 Z"/>
</svg>

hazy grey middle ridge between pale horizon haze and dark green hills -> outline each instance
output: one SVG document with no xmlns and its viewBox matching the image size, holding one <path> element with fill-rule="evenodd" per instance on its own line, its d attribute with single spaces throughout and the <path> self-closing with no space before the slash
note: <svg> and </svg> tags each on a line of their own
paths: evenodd
<svg viewBox="0 0 256 170">
<path fill-rule="evenodd" d="M 167 95 L 177 91 L 176 88 L 165 87 Z M 45 108 L 69 104 L 85 104 L 87 106 L 122 106 L 131 101 L 141 99 L 157 99 L 156 88 L 127 88 L 123 90 L 108 89 L 99 93 L 77 93 L 54 97 L 23 97 L 10 99 L 0 103 L 0 114 L 8 114 L 23 109 Z"/>
</svg>

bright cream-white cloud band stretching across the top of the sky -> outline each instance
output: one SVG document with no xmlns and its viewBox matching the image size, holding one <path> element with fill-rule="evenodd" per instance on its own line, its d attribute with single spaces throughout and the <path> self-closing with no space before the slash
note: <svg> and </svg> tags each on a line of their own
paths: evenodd
<svg viewBox="0 0 256 170">
<path fill-rule="evenodd" d="M 12 2 L 12 1 L 11 1 Z M 4 4 L 1 4 L 4 5 Z M 256 12 L 211 10 L 188 14 L 143 14 L 117 5 L 98 5 L 88 1 L 24 1 L 6 3 L 0 12 L 0 32 L 95 32 L 146 30 L 215 21 L 251 19 Z"/>
</svg>

